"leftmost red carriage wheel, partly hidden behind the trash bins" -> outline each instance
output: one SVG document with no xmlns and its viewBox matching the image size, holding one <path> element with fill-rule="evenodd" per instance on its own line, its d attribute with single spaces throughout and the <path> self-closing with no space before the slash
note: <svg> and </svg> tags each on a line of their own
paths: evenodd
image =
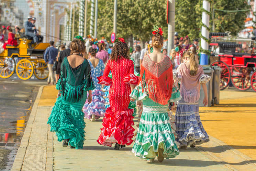
<svg viewBox="0 0 256 171">
<path fill-rule="evenodd" d="M 211 64 L 211 66 L 218 66 L 222 69 L 221 71 L 221 80 L 220 80 L 220 90 L 224 90 L 230 82 L 230 69 L 229 66 L 225 62 L 215 61 Z"/>
</svg>

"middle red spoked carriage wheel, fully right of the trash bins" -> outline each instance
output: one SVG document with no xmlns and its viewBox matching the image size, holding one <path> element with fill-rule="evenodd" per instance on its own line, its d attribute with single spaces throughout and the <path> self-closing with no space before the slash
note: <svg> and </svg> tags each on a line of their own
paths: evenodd
<svg viewBox="0 0 256 171">
<path fill-rule="evenodd" d="M 248 68 L 233 67 L 231 81 L 238 90 L 248 90 L 251 87 L 250 70 Z"/>
</svg>

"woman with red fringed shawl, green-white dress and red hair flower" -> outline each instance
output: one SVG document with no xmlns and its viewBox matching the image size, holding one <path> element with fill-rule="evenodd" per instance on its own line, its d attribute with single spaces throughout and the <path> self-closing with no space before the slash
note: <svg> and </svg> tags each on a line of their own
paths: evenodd
<svg viewBox="0 0 256 171">
<path fill-rule="evenodd" d="M 154 162 L 158 156 L 158 161 L 162 162 L 164 158 L 174 158 L 179 154 L 167 107 L 181 97 L 173 86 L 171 60 L 160 52 L 164 40 L 162 29 L 154 26 L 152 33 L 153 53 L 143 58 L 138 86 L 130 94 L 138 106 L 143 101 L 132 152 L 137 157 L 149 159 L 149 162 Z"/>
</svg>

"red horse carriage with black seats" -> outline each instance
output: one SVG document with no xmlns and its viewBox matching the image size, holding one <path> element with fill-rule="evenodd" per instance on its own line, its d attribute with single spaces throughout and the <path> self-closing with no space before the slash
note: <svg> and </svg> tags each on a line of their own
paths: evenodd
<svg viewBox="0 0 256 171">
<path fill-rule="evenodd" d="M 225 33 L 210 33 L 212 36 L 227 36 Z M 236 53 L 236 48 L 242 48 L 242 44 L 235 42 L 212 42 L 211 46 L 219 48 L 218 60 L 212 66 L 222 69 L 220 90 L 224 90 L 231 83 L 239 90 L 248 90 L 252 87 L 256 91 L 256 55 Z M 218 49 L 217 48 L 217 49 Z"/>
</svg>

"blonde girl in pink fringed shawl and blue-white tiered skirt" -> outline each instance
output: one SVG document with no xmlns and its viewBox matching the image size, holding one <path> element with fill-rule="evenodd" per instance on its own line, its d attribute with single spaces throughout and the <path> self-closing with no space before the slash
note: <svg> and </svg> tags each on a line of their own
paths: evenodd
<svg viewBox="0 0 256 171">
<path fill-rule="evenodd" d="M 178 67 L 177 81 L 180 84 L 182 99 L 178 102 L 175 124 L 178 134 L 177 141 L 180 148 L 195 147 L 209 141 L 209 136 L 203 128 L 198 113 L 198 100 L 202 84 L 204 92 L 204 105 L 208 104 L 206 84 L 211 77 L 203 73 L 203 67 L 198 64 L 196 55 L 192 52 L 181 51 L 183 63 Z"/>
</svg>

